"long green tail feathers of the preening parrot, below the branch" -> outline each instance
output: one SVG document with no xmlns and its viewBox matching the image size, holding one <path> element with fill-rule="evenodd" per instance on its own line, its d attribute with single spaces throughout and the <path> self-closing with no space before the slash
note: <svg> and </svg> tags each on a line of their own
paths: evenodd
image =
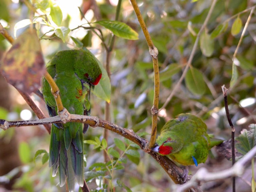
<svg viewBox="0 0 256 192">
<path fill-rule="evenodd" d="M 65 145 L 64 130 L 52 124 L 49 166 L 52 167 L 52 176 L 59 172 L 60 187 L 65 185 L 67 180 L 69 191 L 74 191 L 76 183 L 81 187 L 84 185 L 83 128 L 81 124 L 76 136 L 71 138 L 68 149 Z"/>
</svg>

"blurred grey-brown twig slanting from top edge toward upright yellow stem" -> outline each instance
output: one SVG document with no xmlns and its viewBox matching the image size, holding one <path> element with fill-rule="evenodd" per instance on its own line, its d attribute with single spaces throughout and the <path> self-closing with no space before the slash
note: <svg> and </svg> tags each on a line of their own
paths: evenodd
<svg viewBox="0 0 256 192">
<path fill-rule="evenodd" d="M 191 51 L 191 54 L 190 54 L 190 56 L 189 56 L 189 58 L 188 58 L 187 64 L 186 64 L 186 66 L 185 66 L 185 69 L 184 69 L 184 71 L 183 71 L 183 73 L 182 73 L 182 75 L 181 75 L 179 81 L 176 83 L 176 85 L 175 85 L 175 87 L 173 88 L 171 94 L 170 94 L 169 97 L 166 99 L 166 101 L 164 102 L 162 108 L 161 108 L 159 111 L 161 111 L 162 109 L 164 109 L 164 108 L 166 107 L 166 105 L 170 102 L 170 100 L 172 99 L 173 95 L 176 93 L 176 91 L 177 91 L 178 88 L 180 87 L 181 82 L 182 82 L 183 79 L 185 78 L 186 73 L 187 73 L 187 71 L 188 71 L 188 68 L 189 68 L 189 66 L 191 65 L 192 60 L 193 60 L 193 58 L 194 58 L 194 55 L 195 55 L 195 52 L 196 52 L 196 49 L 197 49 L 197 45 L 198 45 L 198 42 L 199 42 L 200 35 L 201 35 L 201 33 L 203 32 L 203 30 L 204 30 L 204 28 L 205 28 L 205 26 L 206 26 L 206 24 L 207 24 L 207 22 L 208 22 L 210 16 L 211 16 L 212 13 L 213 13 L 213 9 L 214 9 L 214 6 L 215 6 L 216 2 L 217 2 L 217 0 L 213 0 L 213 3 L 212 3 L 212 5 L 211 5 L 211 7 L 210 7 L 210 9 L 209 9 L 209 12 L 208 12 L 208 14 L 207 14 L 205 20 L 204 20 L 204 23 L 203 23 L 203 25 L 201 26 L 200 31 L 199 31 L 198 34 L 197 34 L 197 38 L 196 38 L 196 41 L 195 41 L 195 43 L 194 43 L 193 49 L 192 49 L 192 51 Z"/>
</svg>

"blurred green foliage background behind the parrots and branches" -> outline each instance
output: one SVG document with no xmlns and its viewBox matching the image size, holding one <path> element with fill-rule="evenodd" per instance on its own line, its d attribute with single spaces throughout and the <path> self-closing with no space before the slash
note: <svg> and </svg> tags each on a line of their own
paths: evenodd
<svg viewBox="0 0 256 192">
<path fill-rule="evenodd" d="M 0 22 L 13 37 L 23 32 L 24 26 L 28 24 L 26 23 L 27 20 L 24 21 L 24 19 L 30 18 L 30 8 L 24 2 L 26 1 L 0 1 Z M 196 34 L 200 30 L 212 2 L 210 0 L 137 1 L 150 36 L 159 51 L 161 86 L 159 108 L 164 105 L 180 79 L 193 49 Z M 52 5 L 49 5 L 51 3 Z M 217 1 L 203 35 L 200 37 L 192 61 L 191 68 L 196 71 L 196 76 L 189 75 L 188 72 L 174 96 L 160 111 L 158 131 L 170 118 L 174 118 L 180 113 L 190 112 L 204 119 L 209 133 L 229 139 L 230 127 L 223 108 L 221 85 L 225 84 L 229 88 L 233 63 L 237 67 L 237 78 L 234 86 L 229 89 L 228 103 L 236 128 L 236 135 L 242 129 L 248 128 L 250 123 L 255 123 L 255 14 L 252 15 L 237 57 L 233 61 L 233 54 L 243 27 L 255 5 L 254 0 Z M 103 64 L 106 63 L 107 53 L 104 43 L 109 45 L 112 38 L 110 31 L 96 26 L 96 28 L 101 29 L 104 37 L 104 39 L 100 39 L 92 30 L 82 27 L 73 29 L 87 23 L 81 17 L 81 13 L 89 22 L 114 20 L 117 0 L 76 0 L 72 2 L 35 0 L 35 6 L 41 8 L 38 9 L 40 14 L 34 17 L 34 21 L 38 29 L 38 36 L 41 38 L 45 62 L 50 60 L 57 51 L 75 49 L 78 46 L 77 42 L 81 42 Z M 60 19 L 58 14 L 57 16 L 50 14 L 48 8 L 51 6 L 59 7 L 56 8 L 56 10 L 58 9 L 56 13 L 62 13 L 60 22 L 58 21 Z M 78 7 L 80 7 L 80 11 Z M 44 15 L 52 20 L 48 21 Z M 115 38 L 110 58 L 111 122 L 127 129 L 133 129 L 134 132 L 149 139 L 151 132 L 150 109 L 154 94 L 152 59 L 138 20 L 128 0 L 122 1 L 119 20 L 132 27 L 139 34 L 139 39 Z M 52 25 L 46 25 L 47 22 Z M 85 26 L 88 27 L 89 25 Z M 67 34 L 63 33 L 63 38 L 56 35 L 56 29 L 61 27 L 71 30 Z M 76 43 L 71 36 L 77 40 Z M 10 46 L 10 43 L 0 35 L 0 55 Z M 36 118 L 18 92 L 13 87 L 8 86 L 3 78 L 0 80 L 0 88 L 1 119 Z M 32 97 L 46 115 L 44 102 L 36 95 L 32 95 Z M 93 106 L 91 115 L 104 119 L 105 102 L 93 95 L 91 102 Z M 102 140 L 102 133 L 102 128 L 90 128 L 85 139 L 97 142 L 98 139 L 95 137 Z M 65 189 L 60 189 L 57 186 L 58 178 L 51 176 L 48 163 L 45 163 L 48 160 L 49 135 L 43 126 L 12 128 L 5 132 L 0 130 L 0 136 L 0 173 L 3 175 L 0 177 L 1 189 L 65 191 Z M 114 140 L 114 138 L 117 139 Z M 85 144 L 87 164 L 85 171 L 89 187 L 94 191 L 103 191 L 104 188 L 106 190 L 115 188 L 116 191 L 169 191 L 172 181 L 160 165 L 129 141 L 125 142 L 125 148 L 121 147 L 120 149 L 120 146 L 116 146 L 118 143 L 122 145 L 120 140 L 124 141 L 120 135 L 110 133 L 108 146 L 115 150 L 119 156 L 113 151 L 108 151 L 108 153 L 111 154 L 111 160 L 121 160 L 119 164 L 122 165 L 118 169 L 112 167 L 113 171 L 111 170 L 111 172 L 106 171 L 103 165 L 98 164 L 96 166 L 94 164 L 95 162 L 104 162 L 102 150 L 104 150 L 105 143 L 99 141 L 98 147 L 94 147 L 96 149 L 93 149 L 93 145 Z M 96 143 L 94 144 L 97 146 Z M 129 149 L 132 152 L 127 152 Z M 39 153 L 43 155 L 34 158 L 37 150 L 45 151 Z M 8 164 L 11 166 L 7 166 Z M 206 167 L 210 171 L 218 171 L 231 167 L 231 162 L 213 150 L 206 163 L 200 164 L 198 168 L 200 167 Z M 198 168 L 190 166 L 190 172 L 193 174 Z M 106 177 L 106 175 L 109 176 Z M 251 175 L 249 168 L 242 179 L 237 179 L 237 191 L 251 190 L 247 184 L 251 181 Z M 103 178 L 110 180 L 111 185 L 108 187 L 102 185 Z M 10 179 L 11 183 L 9 182 Z M 246 183 L 246 181 L 248 182 Z M 231 179 L 208 182 L 202 184 L 201 189 L 203 191 L 230 191 Z"/>
</svg>

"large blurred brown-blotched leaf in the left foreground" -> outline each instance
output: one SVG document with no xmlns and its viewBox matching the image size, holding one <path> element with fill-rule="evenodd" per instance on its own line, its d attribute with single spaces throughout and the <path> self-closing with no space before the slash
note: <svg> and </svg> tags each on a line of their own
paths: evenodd
<svg viewBox="0 0 256 192">
<path fill-rule="evenodd" d="M 45 68 L 35 30 L 29 28 L 14 41 L 2 58 L 0 70 L 10 84 L 23 92 L 40 88 Z"/>
</svg>

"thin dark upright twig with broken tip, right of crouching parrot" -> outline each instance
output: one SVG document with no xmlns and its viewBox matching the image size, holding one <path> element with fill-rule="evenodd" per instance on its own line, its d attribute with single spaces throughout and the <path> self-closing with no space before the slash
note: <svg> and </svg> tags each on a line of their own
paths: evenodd
<svg viewBox="0 0 256 192">
<path fill-rule="evenodd" d="M 223 96 L 224 96 L 224 104 L 225 104 L 225 111 L 226 111 L 226 116 L 227 116 L 227 120 L 228 123 L 231 127 L 231 148 L 232 148 L 232 165 L 234 166 L 235 164 L 235 128 L 234 125 L 231 121 L 230 115 L 229 115 L 229 110 L 228 110 L 228 103 L 227 103 L 227 88 L 225 87 L 225 85 L 221 86 L 222 92 L 223 92 Z M 233 192 L 236 191 L 236 177 L 232 177 L 232 187 L 233 187 Z"/>
</svg>

